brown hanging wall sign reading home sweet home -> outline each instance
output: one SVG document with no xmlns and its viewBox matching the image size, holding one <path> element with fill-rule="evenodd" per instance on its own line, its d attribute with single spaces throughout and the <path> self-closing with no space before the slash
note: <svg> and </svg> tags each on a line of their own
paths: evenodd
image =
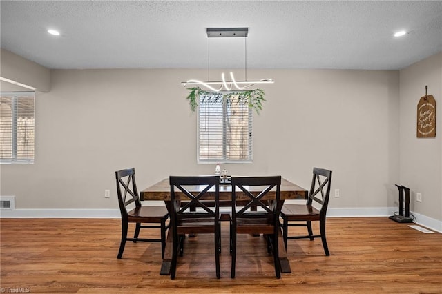
<svg viewBox="0 0 442 294">
<path fill-rule="evenodd" d="M 433 95 L 425 94 L 417 104 L 417 137 L 436 137 L 436 100 Z"/>
</svg>

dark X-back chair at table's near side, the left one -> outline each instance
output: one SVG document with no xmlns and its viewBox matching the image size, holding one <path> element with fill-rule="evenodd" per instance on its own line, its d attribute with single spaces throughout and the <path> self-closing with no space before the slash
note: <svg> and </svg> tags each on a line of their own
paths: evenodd
<svg viewBox="0 0 442 294">
<path fill-rule="evenodd" d="M 171 226 L 173 230 L 173 248 L 171 279 L 175 279 L 178 252 L 183 253 L 186 234 L 214 234 L 216 277 L 220 278 L 220 177 L 214 176 L 170 176 L 171 186 Z M 189 192 L 189 187 L 201 186 L 199 193 Z M 204 198 L 214 195 L 214 205 L 207 206 Z M 195 195 L 196 194 L 196 195 Z M 184 202 L 184 205 L 181 205 Z"/>
</svg>

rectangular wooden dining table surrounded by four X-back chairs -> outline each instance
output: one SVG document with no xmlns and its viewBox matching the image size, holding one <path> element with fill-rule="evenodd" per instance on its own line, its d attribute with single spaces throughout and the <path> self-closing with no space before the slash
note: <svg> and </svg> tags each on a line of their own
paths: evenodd
<svg viewBox="0 0 442 294">
<path fill-rule="evenodd" d="M 203 186 L 193 186 L 188 187 L 190 192 L 198 193 L 204 188 Z M 253 191 L 253 187 L 250 187 Z M 259 187 L 257 187 L 259 190 Z M 307 199 L 307 190 L 301 188 L 297 184 L 289 182 L 287 179 L 282 178 L 280 187 L 280 201 L 284 202 L 287 199 Z M 179 197 L 179 195 L 178 195 Z M 212 199 L 210 197 L 213 197 Z M 241 201 L 247 196 L 238 193 L 236 195 L 236 201 Z M 271 197 L 271 193 L 269 193 Z M 164 201 L 166 207 L 171 211 L 171 187 L 169 185 L 169 178 L 163 179 L 148 188 L 145 188 L 140 192 L 140 199 L 143 200 L 160 200 Z M 214 193 L 211 194 L 210 191 L 207 194 L 206 200 L 213 200 Z M 229 201 L 231 199 L 231 184 L 220 184 L 220 201 Z M 164 258 L 161 266 L 161 275 L 170 275 L 171 261 L 172 261 L 172 238 L 173 234 L 171 230 L 167 233 L 166 248 L 164 251 Z M 284 240 L 282 239 L 282 232 L 279 234 L 279 259 L 281 264 L 282 273 L 291 273 L 289 259 L 287 259 L 287 253 L 285 251 Z"/>
</svg>

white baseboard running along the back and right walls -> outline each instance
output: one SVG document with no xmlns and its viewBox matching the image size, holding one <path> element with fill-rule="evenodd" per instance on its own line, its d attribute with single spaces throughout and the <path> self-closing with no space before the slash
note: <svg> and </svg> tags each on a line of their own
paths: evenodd
<svg viewBox="0 0 442 294">
<path fill-rule="evenodd" d="M 388 217 L 397 208 L 329 208 L 327 217 Z M 442 221 L 419 213 L 412 213 L 416 224 L 442 233 Z M 119 218 L 118 209 L 15 209 L 1 210 L 5 218 Z"/>
</svg>

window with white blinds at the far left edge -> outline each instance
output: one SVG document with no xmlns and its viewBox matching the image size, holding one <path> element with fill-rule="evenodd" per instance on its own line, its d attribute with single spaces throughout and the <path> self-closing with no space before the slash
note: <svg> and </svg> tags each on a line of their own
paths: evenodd
<svg viewBox="0 0 442 294">
<path fill-rule="evenodd" d="M 34 162 L 34 92 L 1 92 L 0 162 Z"/>
</svg>

